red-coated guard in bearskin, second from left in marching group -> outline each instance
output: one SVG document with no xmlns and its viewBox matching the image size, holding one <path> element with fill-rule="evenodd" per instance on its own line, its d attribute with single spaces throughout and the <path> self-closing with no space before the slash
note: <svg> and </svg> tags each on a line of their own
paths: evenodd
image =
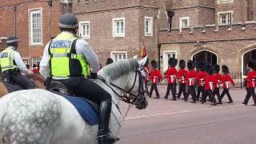
<svg viewBox="0 0 256 144">
<path fill-rule="evenodd" d="M 166 78 L 168 80 L 168 86 L 166 91 L 166 99 L 168 98 L 168 95 L 171 90 L 171 94 L 173 95 L 173 101 L 176 101 L 176 76 L 177 76 L 177 70 L 175 69 L 175 66 L 177 66 L 178 60 L 176 58 L 170 58 L 169 59 L 169 68 L 166 72 Z"/>
</svg>

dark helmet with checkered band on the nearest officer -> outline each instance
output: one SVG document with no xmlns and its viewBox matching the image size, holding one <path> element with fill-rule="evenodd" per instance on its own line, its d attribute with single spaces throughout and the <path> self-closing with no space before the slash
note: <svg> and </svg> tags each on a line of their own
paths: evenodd
<svg viewBox="0 0 256 144">
<path fill-rule="evenodd" d="M 59 18 L 58 26 L 61 30 L 77 30 L 78 18 L 76 18 L 74 14 L 62 14 Z"/>
</svg>

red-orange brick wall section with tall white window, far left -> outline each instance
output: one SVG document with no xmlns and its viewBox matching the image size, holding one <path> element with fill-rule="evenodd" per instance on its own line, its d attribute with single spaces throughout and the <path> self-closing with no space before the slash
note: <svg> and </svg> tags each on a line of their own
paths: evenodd
<svg viewBox="0 0 256 144">
<path fill-rule="evenodd" d="M 69 9 L 67 1 L 4 0 L 0 3 L 0 48 L 6 48 L 6 37 L 17 35 L 18 51 L 24 62 L 39 62 L 44 46 L 58 34 L 58 18 Z"/>
</svg>

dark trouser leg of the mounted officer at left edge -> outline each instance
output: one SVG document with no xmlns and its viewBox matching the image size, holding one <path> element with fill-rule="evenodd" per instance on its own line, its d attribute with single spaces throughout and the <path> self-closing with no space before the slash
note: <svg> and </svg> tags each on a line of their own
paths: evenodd
<svg viewBox="0 0 256 144">
<path fill-rule="evenodd" d="M 34 83 L 28 77 L 21 73 L 11 74 L 12 82 L 22 86 L 25 90 L 34 89 Z"/>
</svg>

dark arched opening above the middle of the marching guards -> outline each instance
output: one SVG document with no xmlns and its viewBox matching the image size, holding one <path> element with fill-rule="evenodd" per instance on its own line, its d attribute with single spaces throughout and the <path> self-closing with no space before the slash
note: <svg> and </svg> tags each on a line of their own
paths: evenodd
<svg viewBox="0 0 256 144">
<path fill-rule="evenodd" d="M 201 50 L 193 54 L 191 60 L 196 63 L 196 66 L 199 62 L 206 62 L 214 66 L 218 63 L 218 55 L 209 50 Z"/>
</svg>

